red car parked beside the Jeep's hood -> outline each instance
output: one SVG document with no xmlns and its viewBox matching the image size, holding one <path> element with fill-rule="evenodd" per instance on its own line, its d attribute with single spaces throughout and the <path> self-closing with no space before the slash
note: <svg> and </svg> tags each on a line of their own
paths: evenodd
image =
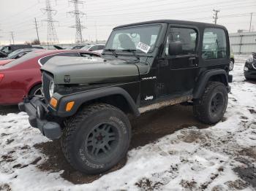
<svg viewBox="0 0 256 191">
<path fill-rule="evenodd" d="M 84 50 L 35 50 L 0 65 L 0 104 L 18 104 L 24 95 L 41 95 L 40 68 L 54 56 L 100 57 Z"/>
</svg>

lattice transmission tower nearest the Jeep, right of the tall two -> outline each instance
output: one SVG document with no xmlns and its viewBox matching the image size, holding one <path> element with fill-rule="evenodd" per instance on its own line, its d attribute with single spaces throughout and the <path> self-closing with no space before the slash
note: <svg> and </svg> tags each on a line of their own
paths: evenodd
<svg viewBox="0 0 256 191">
<path fill-rule="evenodd" d="M 80 44 L 83 43 L 82 29 L 86 28 L 81 24 L 80 17 L 86 15 L 84 12 L 79 11 L 79 4 L 83 4 L 84 1 L 78 0 L 69 0 L 70 3 L 74 4 L 75 9 L 73 11 L 68 12 L 75 16 L 75 26 L 71 26 L 71 28 L 75 28 L 75 42 Z"/>
</svg>

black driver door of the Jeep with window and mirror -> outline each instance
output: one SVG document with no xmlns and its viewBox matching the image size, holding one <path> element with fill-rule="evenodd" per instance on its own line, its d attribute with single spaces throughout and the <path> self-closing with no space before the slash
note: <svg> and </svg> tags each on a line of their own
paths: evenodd
<svg viewBox="0 0 256 191">
<path fill-rule="evenodd" d="M 198 30 L 189 26 L 169 27 L 165 51 L 158 63 L 158 97 L 192 95 L 199 71 L 198 35 Z"/>
</svg>

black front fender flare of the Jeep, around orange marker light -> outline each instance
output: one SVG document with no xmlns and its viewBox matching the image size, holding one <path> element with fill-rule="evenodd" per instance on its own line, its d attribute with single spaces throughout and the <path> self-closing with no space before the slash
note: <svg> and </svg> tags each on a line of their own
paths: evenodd
<svg viewBox="0 0 256 191">
<path fill-rule="evenodd" d="M 132 97 L 127 93 L 126 90 L 124 90 L 121 87 L 105 87 L 100 88 L 96 90 L 89 90 L 85 92 L 75 93 L 75 94 L 69 94 L 69 95 L 59 95 L 56 93 L 57 96 L 54 96 L 56 98 L 59 97 L 59 106 L 57 111 L 53 111 L 53 108 L 51 106 L 48 106 L 48 109 L 51 110 L 51 112 L 56 113 L 59 117 L 69 117 L 75 114 L 80 106 L 88 101 L 93 101 L 97 98 L 103 98 L 109 95 L 121 95 L 125 98 L 127 103 L 129 104 L 129 108 L 135 114 L 136 116 L 140 115 L 140 112 L 138 110 L 138 106 L 135 104 L 135 101 L 133 101 Z M 66 104 L 69 101 L 75 101 L 75 105 L 73 106 L 72 110 L 70 112 L 66 112 Z"/>
</svg>

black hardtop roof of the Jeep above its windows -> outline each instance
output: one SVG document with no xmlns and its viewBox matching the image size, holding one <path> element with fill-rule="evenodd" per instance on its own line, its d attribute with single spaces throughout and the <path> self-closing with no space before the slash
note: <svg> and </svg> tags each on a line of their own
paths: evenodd
<svg viewBox="0 0 256 191">
<path fill-rule="evenodd" d="M 151 20 L 151 21 L 145 21 L 140 23 L 131 23 L 123 26 L 116 26 L 113 29 L 117 28 L 123 28 L 123 27 L 129 27 L 129 26 L 139 26 L 139 25 L 146 25 L 146 24 L 154 24 L 154 23 L 167 23 L 167 24 L 175 24 L 175 25 L 184 25 L 184 26 L 197 26 L 197 27 L 213 27 L 213 28 L 225 28 L 225 26 L 215 25 L 212 23 L 201 23 L 201 22 L 194 22 L 194 21 L 188 21 L 188 20 Z"/>
</svg>

